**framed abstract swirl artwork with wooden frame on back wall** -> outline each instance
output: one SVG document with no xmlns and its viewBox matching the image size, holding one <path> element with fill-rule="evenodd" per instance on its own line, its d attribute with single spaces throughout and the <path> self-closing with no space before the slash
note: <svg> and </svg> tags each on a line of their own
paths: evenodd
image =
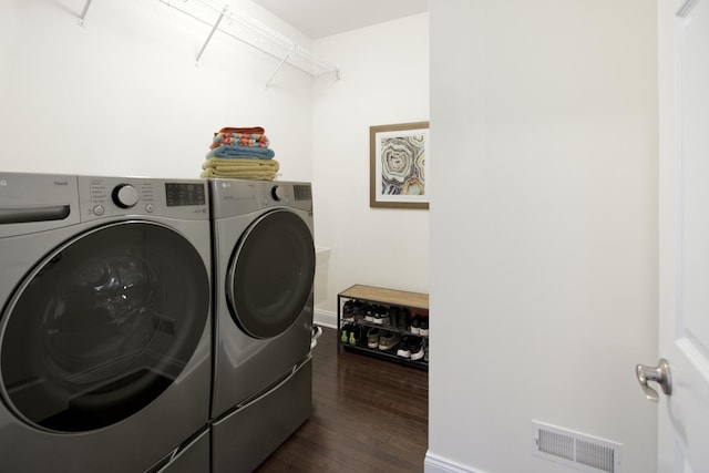
<svg viewBox="0 0 709 473">
<path fill-rule="evenodd" d="M 369 206 L 429 208 L 429 122 L 369 127 Z"/>
</svg>

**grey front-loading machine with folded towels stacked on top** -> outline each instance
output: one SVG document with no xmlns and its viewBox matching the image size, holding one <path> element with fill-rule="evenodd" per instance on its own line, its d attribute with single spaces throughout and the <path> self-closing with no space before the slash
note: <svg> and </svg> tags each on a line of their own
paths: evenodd
<svg viewBox="0 0 709 473">
<path fill-rule="evenodd" d="M 210 179 L 215 473 L 253 471 L 310 415 L 309 183 Z"/>
</svg>

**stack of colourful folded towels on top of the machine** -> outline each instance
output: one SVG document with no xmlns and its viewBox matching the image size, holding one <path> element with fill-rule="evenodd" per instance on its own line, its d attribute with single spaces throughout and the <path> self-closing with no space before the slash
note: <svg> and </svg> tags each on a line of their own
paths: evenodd
<svg viewBox="0 0 709 473">
<path fill-rule="evenodd" d="M 279 169 L 260 126 L 225 127 L 214 134 L 201 177 L 273 181 Z"/>
</svg>

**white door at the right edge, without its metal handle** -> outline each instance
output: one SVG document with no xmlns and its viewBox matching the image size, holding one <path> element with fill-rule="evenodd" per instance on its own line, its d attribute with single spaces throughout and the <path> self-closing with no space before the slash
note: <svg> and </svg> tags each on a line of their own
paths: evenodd
<svg viewBox="0 0 709 473">
<path fill-rule="evenodd" d="M 658 0 L 658 471 L 709 471 L 709 0 Z M 650 382 L 659 391 L 658 384 Z"/>
</svg>

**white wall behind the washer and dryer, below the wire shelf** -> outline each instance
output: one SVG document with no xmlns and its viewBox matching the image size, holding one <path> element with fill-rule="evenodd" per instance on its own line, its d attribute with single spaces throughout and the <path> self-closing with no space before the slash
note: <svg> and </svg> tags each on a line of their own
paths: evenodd
<svg viewBox="0 0 709 473">
<path fill-rule="evenodd" d="M 213 133 L 266 128 L 281 179 L 312 177 L 312 78 L 157 0 L 0 2 L 0 168 L 197 177 Z M 233 1 L 305 48 L 250 0 Z"/>
</svg>

